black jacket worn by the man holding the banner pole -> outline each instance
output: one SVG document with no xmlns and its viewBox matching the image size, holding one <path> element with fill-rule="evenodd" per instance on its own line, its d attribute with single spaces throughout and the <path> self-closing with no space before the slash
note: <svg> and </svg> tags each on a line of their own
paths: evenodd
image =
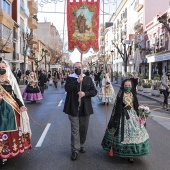
<svg viewBox="0 0 170 170">
<path fill-rule="evenodd" d="M 93 114 L 93 108 L 91 104 L 91 97 L 97 94 L 97 90 L 94 87 L 92 79 L 88 76 L 83 78 L 82 91 L 85 92 L 85 96 L 81 98 L 81 106 L 78 111 L 78 92 L 80 91 L 80 83 L 77 82 L 77 78 L 68 77 L 66 79 L 65 90 L 67 92 L 64 112 L 71 116 L 88 116 Z"/>
</svg>

